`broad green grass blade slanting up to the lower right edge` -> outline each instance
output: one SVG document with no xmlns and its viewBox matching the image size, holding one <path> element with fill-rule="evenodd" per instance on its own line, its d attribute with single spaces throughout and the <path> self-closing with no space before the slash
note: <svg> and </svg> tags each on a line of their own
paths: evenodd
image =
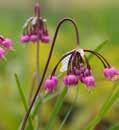
<svg viewBox="0 0 119 130">
<path fill-rule="evenodd" d="M 104 102 L 100 112 L 96 115 L 96 118 L 92 120 L 89 125 L 86 127 L 85 130 L 93 130 L 95 126 L 101 121 L 104 115 L 109 111 L 110 107 L 119 97 L 119 88 L 117 87 L 118 83 L 115 83 L 112 87 L 111 93 L 107 97 L 106 101 Z"/>
</svg>

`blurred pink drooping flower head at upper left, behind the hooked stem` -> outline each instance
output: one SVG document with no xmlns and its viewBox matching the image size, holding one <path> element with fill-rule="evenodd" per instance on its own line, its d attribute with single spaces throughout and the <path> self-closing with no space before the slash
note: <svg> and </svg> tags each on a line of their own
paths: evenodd
<svg viewBox="0 0 119 130">
<path fill-rule="evenodd" d="M 23 26 L 22 43 L 43 42 L 49 43 L 50 37 L 47 30 L 47 20 L 41 17 L 39 3 L 34 7 L 35 16 L 28 18 Z"/>
</svg>

